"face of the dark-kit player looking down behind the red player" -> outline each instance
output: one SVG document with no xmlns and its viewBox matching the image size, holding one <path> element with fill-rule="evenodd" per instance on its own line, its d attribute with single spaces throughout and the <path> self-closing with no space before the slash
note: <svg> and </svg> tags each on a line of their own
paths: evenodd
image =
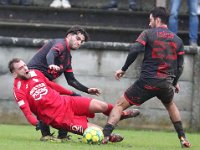
<svg viewBox="0 0 200 150">
<path fill-rule="evenodd" d="M 85 36 L 81 33 L 68 35 L 69 47 L 71 49 L 79 49 L 84 41 Z"/>
</svg>

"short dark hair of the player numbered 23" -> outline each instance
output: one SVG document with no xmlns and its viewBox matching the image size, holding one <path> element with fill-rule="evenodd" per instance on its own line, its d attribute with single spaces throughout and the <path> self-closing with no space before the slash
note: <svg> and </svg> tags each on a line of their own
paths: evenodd
<svg viewBox="0 0 200 150">
<path fill-rule="evenodd" d="M 164 24 L 168 24 L 169 20 L 169 13 L 164 7 L 155 7 L 150 11 L 150 14 L 152 14 L 153 18 L 160 18 L 161 22 Z"/>
</svg>

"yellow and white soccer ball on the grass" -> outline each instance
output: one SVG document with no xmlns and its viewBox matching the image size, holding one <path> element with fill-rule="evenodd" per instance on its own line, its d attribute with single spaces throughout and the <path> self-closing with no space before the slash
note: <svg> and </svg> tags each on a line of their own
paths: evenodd
<svg viewBox="0 0 200 150">
<path fill-rule="evenodd" d="M 98 127 L 88 127 L 83 133 L 83 143 L 86 144 L 101 144 L 103 139 L 103 132 Z"/>
</svg>

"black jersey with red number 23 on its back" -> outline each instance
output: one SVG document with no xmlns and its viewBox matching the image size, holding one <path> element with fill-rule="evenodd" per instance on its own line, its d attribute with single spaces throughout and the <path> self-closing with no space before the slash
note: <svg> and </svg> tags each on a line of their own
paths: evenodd
<svg viewBox="0 0 200 150">
<path fill-rule="evenodd" d="M 178 55 L 184 54 L 183 42 L 178 36 L 159 27 L 143 31 L 136 41 L 145 46 L 141 78 L 175 78 Z"/>
</svg>

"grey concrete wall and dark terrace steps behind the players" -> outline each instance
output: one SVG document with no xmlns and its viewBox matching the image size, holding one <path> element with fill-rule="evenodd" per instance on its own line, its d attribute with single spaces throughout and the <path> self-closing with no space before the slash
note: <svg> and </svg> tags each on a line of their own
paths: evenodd
<svg viewBox="0 0 200 150">
<path fill-rule="evenodd" d="M 19 57 L 28 62 L 47 40 L 64 38 L 66 31 L 77 24 L 87 30 L 91 40 L 81 49 L 72 51 L 76 78 L 89 87 L 102 89 L 102 94 L 95 98 L 115 103 L 139 76 L 143 54 L 139 55 L 120 82 L 114 79 L 114 72 L 122 67 L 130 43 L 148 28 L 149 11 L 155 6 L 170 10 L 169 0 L 136 0 L 134 7 L 130 7 L 128 0 L 119 0 L 117 7 L 110 5 L 109 0 L 1 0 L 0 123 L 27 124 L 13 99 L 13 80 L 7 69 L 8 61 Z M 189 46 L 186 1 L 182 1 L 178 23 L 178 35 L 184 41 L 186 57 L 180 78 L 182 90 L 175 95 L 175 102 L 181 111 L 184 127 L 199 131 L 200 56 L 199 47 Z M 61 76 L 57 82 L 75 91 L 64 80 Z M 120 127 L 173 130 L 165 108 L 157 99 L 146 102 L 138 109 L 141 115 L 122 121 Z M 92 121 L 104 125 L 106 118 L 98 115 Z"/>
</svg>

